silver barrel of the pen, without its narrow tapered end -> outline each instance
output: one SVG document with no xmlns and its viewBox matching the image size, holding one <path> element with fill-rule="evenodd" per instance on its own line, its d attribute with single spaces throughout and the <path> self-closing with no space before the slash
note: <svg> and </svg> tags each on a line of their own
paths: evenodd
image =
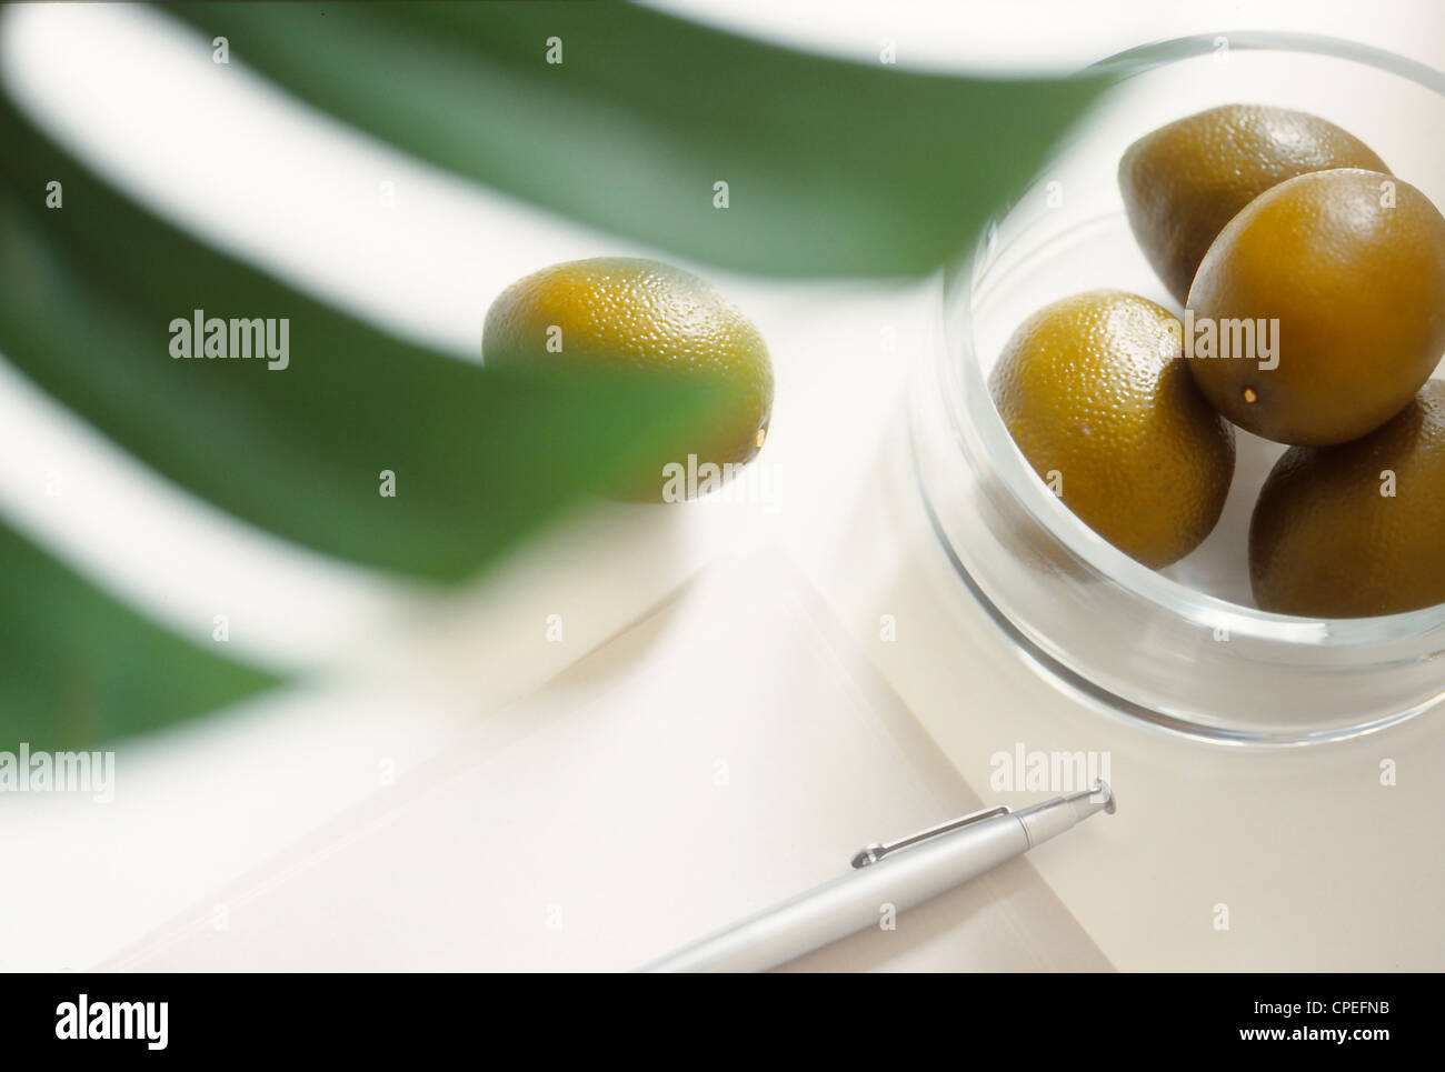
<svg viewBox="0 0 1445 1072">
<path fill-rule="evenodd" d="M 763 971 L 905 912 L 1027 851 L 1013 815 L 909 848 L 744 919 L 644 971 Z"/>
</svg>

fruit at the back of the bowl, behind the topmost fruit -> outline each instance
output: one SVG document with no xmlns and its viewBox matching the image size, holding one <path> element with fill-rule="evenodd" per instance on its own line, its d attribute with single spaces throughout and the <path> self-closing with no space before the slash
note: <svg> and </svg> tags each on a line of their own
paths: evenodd
<svg viewBox="0 0 1445 1072">
<path fill-rule="evenodd" d="M 1225 104 L 1134 142 L 1118 162 L 1118 186 L 1134 238 L 1182 305 L 1240 209 L 1285 179 L 1332 168 L 1389 173 L 1367 144 L 1318 116 Z"/>
</svg>

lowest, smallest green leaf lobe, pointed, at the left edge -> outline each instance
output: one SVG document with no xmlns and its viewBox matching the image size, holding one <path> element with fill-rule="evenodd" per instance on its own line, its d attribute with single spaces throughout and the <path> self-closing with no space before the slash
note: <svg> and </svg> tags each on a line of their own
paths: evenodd
<svg viewBox="0 0 1445 1072">
<path fill-rule="evenodd" d="M 158 628 L 0 526 L 0 751 L 91 748 L 276 682 Z"/>
</svg>

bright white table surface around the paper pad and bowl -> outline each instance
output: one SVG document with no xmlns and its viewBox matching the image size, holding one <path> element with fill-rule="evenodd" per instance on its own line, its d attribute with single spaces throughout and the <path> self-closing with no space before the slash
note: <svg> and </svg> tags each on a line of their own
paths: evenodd
<svg viewBox="0 0 1445 1072">
<path fill-rule="evenodd" d="M 1126 13 L 1091 22 L 1092 36 L 1079 26 L 1051 40 L 1069 36 L 1103 55 L 1140 35 L 1283 20 L 1445 66 L 1445 35 L 1426 32 L 1438 16 L 1425 3 L 1147 7 L 1147 22 Z M 513 277 L 577 256 L 652 253 L 399 157 L 277 101 L 240 66 L 205 81 L 214 72 L 197 66 L 184 35 L 162 33 L 149 12 L 25 7 L 6 17 L 9 78 L 30 85 L 32 105 L 114 175 L 238 254 L 460 355 L 475 353 L 486 303 Z M 946 62 L 935 55 L 939 35 L 907 25 L 932 42 L 928 64 Z M 883 32 L 855 9 L 818 26 L 822 46 L 841 52 Z M 959 39 L 959 53 L 1038 39 L 1032 20 L 1010 29 L 1000 14 L 990 26 L 994 36 Z M 142 52 L 155 62 L 134 62 Z M 175 94 L 176 78 L 192 91 Z M 137 120 L 147 107 L 158 118 Z M 223 159 L 165 143 L 160 133 L 186 120 L 264 123 L 288 152 L 240 178 Z M 381 181 L 399 192 L 389 214 L 373 202 Z M 1176 740 L 1062 695 L 968 604 L 923 527 L 903 390 L 931 344 L 929 286 L 702 270 L 775 354 L 776 419 L 757 462 L 772 467 L 773 491 L 679 510 L 603 507 L 444 605 L 218 517 L 0 376 L 7 516 L 179 628 L 208 631 L 217 602 L 243 607 L 238 650 L 312 670 L 305 686 L 127 745 L 110 805 L 4 802 L 0 839 L 26 867 L 0 891 L 0 967 L 105 962 L 445 754 L 707 563 L 759 549 L 786 556 L 824 595 L 975 796 L 993 796 L 990 756 L 1017 743 L 1111 753 L 1118 813 L 1097 837 L 1035 854 L 1035 865 L 1118 968 L 1445 967 L 1439 715 L 1357 743 L 1250 753 Z M 897 341 L 892 354 L 884 329 Z M 56 467 L 71 475 L 62 501 L 42 491 Z M 155 540 L 171 532 L 210 539 L 166 553 Z M 553 613 L 562 643 L 545 639 Z M 879 634 L 884 614 L 897 623 L 892 643 Z M 1397 786 L 1380 784 L 1383 758 L 1397 763 Z M 676 822 L 685 835 L 688 816 Z M 1212 926 L 1221 903 L 1228 930 Z M 344 930 L 345 913 L 332 925 Z"/>
</svg>

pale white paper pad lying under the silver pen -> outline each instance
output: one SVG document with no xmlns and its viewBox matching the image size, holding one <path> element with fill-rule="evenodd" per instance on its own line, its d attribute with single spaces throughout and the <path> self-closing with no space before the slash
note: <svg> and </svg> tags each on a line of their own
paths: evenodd
<svg viewBox="0 0 1445 1072">
<path fill-rule="evenodd" d="M 782 556 L 552 685 L 108 968 L 630 969 L 981 802 Z M 1020 858 L 796 969 L 1108 969 Z"/>
</svg>

